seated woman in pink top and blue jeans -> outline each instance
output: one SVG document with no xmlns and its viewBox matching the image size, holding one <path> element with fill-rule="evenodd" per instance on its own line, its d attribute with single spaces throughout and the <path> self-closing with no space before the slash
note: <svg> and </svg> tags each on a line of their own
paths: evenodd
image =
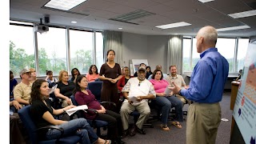
<svg viewBox="0 0 256 144">
<path fill-rule="evenodd" d="M 172 92 L 166 92 L 168 91 L 166 87 L 169 86 L 169 83 L 165 79 L 162 79 L 162 77 L 161 70 L 154 70 L 152 79 L 150 80 L 157 94 L 156 103 L 162 107 L 162 130 L 170 130 L 167 126 L 167 121 L 171 107 L 175 107 L 176 110 L 176 119 L 172 124 L 181 129 L 182 125 L 180 122 L 183 122 L 182 102 Z"/>
</svg>

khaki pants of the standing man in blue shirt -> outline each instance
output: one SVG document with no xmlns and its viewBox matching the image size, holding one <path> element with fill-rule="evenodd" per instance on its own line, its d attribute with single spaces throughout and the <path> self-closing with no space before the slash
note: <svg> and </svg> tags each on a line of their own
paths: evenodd
<svg viewBox="0 0 256 144">
<path fill-rule="evenodd" d="M 214 144 L 221 116 L 218 102 L 192 103 L 186 121 L 186 144 Z"/>
</svg>

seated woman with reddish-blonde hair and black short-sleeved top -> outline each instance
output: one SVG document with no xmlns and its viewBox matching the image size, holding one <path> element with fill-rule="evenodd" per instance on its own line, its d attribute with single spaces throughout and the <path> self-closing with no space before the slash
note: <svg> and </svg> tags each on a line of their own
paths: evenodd
<svg viewBox="0 0 256 144">
<path fill-rule="evenodd" d="M 58 74 L 58 86 L 54 90 L 57 98 L 62 99 L 62 107 L 72 105 L 70 96 L 75 88 L 74 82 L 69 81 L 69 75 L 66 70 L 61 70 Z"/>
</svg>

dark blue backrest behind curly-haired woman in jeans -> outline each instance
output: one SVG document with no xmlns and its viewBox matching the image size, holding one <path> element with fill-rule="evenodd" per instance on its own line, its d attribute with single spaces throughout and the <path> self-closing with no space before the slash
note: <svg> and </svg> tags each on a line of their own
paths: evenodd
<svg viewBox="0 0 256 144">
<path fill-rule="evenodd" d="M 30 116 L 30 107 L 30 105 L 22 107 L 21 110 L 18 110 L 18 116 L 21 118 L 23 125 L 29 133 L 31 143 L 37 143 L 37 127 L 34 125 Z"/>
</svg>

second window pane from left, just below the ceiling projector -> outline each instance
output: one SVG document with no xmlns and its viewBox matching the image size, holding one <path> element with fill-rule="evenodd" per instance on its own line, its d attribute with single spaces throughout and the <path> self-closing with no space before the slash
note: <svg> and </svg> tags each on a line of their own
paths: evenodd
<svg viewBox="0 0 256 144">
<path fill-rule="evenodd" d="M 66 70 L 66 30 L 50 27 L 46 33 L 37 34 L 40 75 L 46 75 L 46 70 L 52 70 L 54 75 Z"/>
</svg>

